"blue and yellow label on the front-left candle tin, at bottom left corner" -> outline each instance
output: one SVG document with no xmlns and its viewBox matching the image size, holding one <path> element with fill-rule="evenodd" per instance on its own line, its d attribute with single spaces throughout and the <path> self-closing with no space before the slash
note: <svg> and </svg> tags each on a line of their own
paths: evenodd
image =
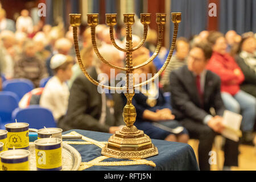
<svg viewBox="0 0 256 182">
<path fill-rule="evenodd" d="M 30 171 L 28 157 L 23 159 L 1 159 L 2 171 Z"/>
</svg>

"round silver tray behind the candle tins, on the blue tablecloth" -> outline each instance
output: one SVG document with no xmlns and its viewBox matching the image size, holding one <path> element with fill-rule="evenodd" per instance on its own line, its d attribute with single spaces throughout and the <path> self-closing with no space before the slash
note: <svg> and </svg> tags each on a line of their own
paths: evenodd
<svg viewBox="0 0 256 182">
<path fill-rule="evenodd" d="M 62 170 L 61 171 L 77 171 L 79 168 L 82 158 L 76 148 L 69 144 L 63 144 L 62 150 Z M 30 171 L 36 171 L 36 158 L 35 158 L 35 144 L 30 142 Z"/>
</svg>

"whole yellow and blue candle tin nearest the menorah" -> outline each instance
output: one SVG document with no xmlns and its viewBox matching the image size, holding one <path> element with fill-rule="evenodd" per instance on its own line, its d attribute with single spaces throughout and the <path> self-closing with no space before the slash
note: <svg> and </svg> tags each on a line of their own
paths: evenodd
<svg viewBox="0 0 256 182">
<path fill-rule="evenodd" d="M 35 140 L 36 168 L 38 171 L 62 169 L 62 142 L 59 138 Z"/>
</svg>

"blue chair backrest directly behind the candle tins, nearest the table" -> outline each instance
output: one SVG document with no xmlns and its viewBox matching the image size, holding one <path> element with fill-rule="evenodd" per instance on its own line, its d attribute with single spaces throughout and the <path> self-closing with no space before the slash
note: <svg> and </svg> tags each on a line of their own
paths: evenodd
<svg viewBox="0 0 256 182">
<path fill-rule="evenodd" d="M 31 105 L 25 109 L 17 108 L 13 111 L 13 121 L 28 123 L 31 129 L 57 127 L 52 112 L 39 105 Z"/>
</svg>

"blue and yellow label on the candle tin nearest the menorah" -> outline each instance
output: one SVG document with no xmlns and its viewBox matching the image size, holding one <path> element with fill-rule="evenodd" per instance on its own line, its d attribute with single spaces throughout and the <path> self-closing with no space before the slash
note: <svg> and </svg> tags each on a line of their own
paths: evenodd
<svg viewBox="0 0 256 182">
<path fill-rule="evenodd" d="M 52 147 L 54 149 L 51 149 Z M 55 147 L 46 146 L 44 149 L 45 150 L 41 150 L 39 148 L 35 149 L 36 168 L 38 170 L 61 170 L 62 168 L 61 145 L 57 144 Z"/>
</svg>

